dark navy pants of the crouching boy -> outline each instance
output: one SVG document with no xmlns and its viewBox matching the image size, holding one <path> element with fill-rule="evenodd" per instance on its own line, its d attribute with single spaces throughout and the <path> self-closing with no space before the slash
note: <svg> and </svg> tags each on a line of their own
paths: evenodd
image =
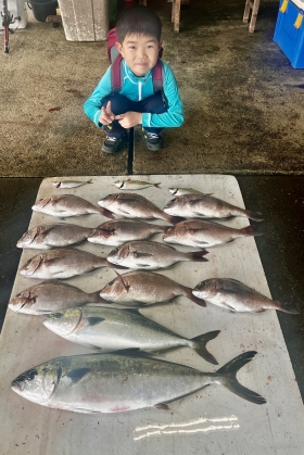
<svg viewBox="0 0 304 455">
<path fill-rule="evenodd" d="M 114 92 L 104 98 L 101 105 L 105 108 L 109 101 L 111 101 L 111 110 L 114 115 L 125 114 L 126 112 L 148 112 L 151 114 L 163 114 L 167 111 L 166 102 L 161 91 L 157 91 L 156 93 L 144 98 L 144 100 L 141 101 L 131 101 L 124 94 Z M 121 138 L 126 132 L 126 129 L 119 125 L 118 121 L 113 121 L 112 124 L 110 124 L 110 127 L 111 128 L 109 128 L 107 125 L 104 125 L 103 127 L 103 129 L 106 131 L 106 135 L 110 137 Z M 147 131 L 156 132 L 159 135 L 163 128 L 144 127 L 144 129 Z"/>
</svg>

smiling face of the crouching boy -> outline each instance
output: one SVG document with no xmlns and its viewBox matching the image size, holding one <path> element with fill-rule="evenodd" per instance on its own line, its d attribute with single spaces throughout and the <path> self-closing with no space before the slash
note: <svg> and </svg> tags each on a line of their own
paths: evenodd
<svg viewBox="0 0 304 455">
<path fill-rule="evenodd" d="M 162 41 L 145 35 L 127 35 L 116 47 L 136 76 L 144 76 L 159 59 Z"/>
</svg>

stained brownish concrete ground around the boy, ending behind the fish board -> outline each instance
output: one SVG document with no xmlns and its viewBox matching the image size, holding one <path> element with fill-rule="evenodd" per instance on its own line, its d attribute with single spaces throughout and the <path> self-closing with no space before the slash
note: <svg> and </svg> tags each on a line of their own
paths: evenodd
<svg viewBox="0 0 304 455">
<path fill-rule="evenodd" d="M 244 1 L 191 0 L 180 34 L 170 3 L 151 5 L 186 111 L 181 128 L 164 131 L 165 149 L 148 152 L 137 128 L 132 159 L 101 152 L 104 134 L 83 104 L 109 65 L 106 43 L 66 41 L 29 12 L 0 52 L 0 176 L 303 174 L 304 71 L 273 41 L 278 2 L 262 2 L 254 34 Z"/>
</svg>

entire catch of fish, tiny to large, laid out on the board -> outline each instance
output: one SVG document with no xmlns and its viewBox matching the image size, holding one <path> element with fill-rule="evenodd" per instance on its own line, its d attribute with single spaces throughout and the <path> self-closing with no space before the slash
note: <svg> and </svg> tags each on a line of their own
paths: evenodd
<svg viewBox="0 0 304 455">
<path fill-rule="evenodd" d="M 72 180 L 54 186 L 76 188 L 90 182 Z M 128 179 L 113 185 L 122 190 L 138 190 L 153 184 Z M 159 188 L 159 185 L 153 186 Z M 202 219 L 183 220 L 185 217 L 262 218 L 261 214 L 192 189 L 169 190 L 176 199 L 169 201 L 164 211 L 135 193 L 110 194 L 98 202 L 101 208 L 74 195 L 53 195 L 36 202 L 34 211 L 62 218 L 98 213 L 113 220 L 96 229 L 64 224 L 41 225 L 23 236 L 18 241 L 20 248 L 65 248 L 86 239 L 118 248 L 106 258 L 79 250 L 51 250 L 37 254 L 23 266 L 22 275 L 47 281 L 22 291 L 12 299 L 10 308 L 20 313 L 47 314 L 43 321 L 47 328 L 104 354 L 58 357 L 38 365 L 13 380 L 12 389 L 16 393 L 40 405 L 79 413 L 117 413 L 150 406 L 168 409 L 170 402 L 208 384 L 223 384 L 255 404 L 266 403 L 264 397 L 241 386 L 236 377 L 238 370 L 255 356 L 255 351 L 239 355 L 216 372 L 202 372 L 150 358 L 159 351 L 188 346 L 216 365 L 217 361 L 207 351 L 206 344 L 219 331 L 187 339 L 145 318 L 134 309 L 136 307 L 165 303 L 185 295 L 201 306 L 208 302 L 232 312 L 275 308 L 295 313 L 232 279 L 204 280 L 191 290 L 163 275 L 144 271 L 168 267 L 178 261 L 203 262 L 206 261 L 206 247 L 259 235 L 251 226 L 232 229 Z M 175 226 L 114 219 L 115 216 L 163 219 Z M 201 251 L 181 253 L 169 245 L 149 241 L 156 232 L 164 233 L 163 240 L 167 243 L 195 247 Z M 116 278 L 93 293 L 52 279 L 69 278 L 104 266 L 139 270 L 124 275 L 116 271 Z M 122 308 L 111 307 L 112 302 L 122 305 Z"/>
</svg>

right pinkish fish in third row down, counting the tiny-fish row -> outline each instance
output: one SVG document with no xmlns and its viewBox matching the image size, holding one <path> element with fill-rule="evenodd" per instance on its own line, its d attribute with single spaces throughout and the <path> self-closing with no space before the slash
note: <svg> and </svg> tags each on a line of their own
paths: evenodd
<svg viewBox="0 0 304 455">
<path fill-rule="evenodd" d="M 169 227 L 163 239 L 166 243 L 178 243 L 187 247 L 210 248 L 221 243 L 231 242 L 239 237 L 262 236 L 255 226 L 235 229 L 218 223 L 205 220 L 181 222 Z"/>
</svg>

